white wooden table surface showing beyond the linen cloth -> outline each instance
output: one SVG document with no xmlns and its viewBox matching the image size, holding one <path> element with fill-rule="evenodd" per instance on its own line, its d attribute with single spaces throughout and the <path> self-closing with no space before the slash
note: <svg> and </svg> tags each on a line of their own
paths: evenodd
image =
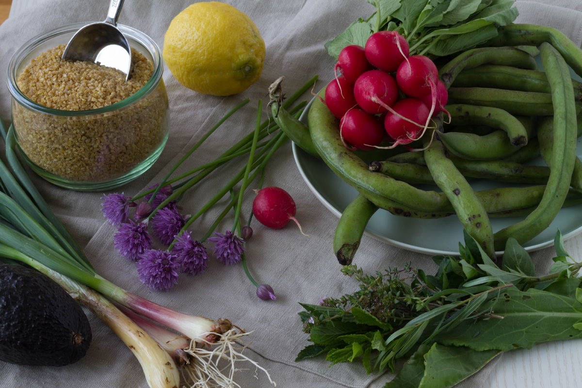
<svg viewBox="0 0 582 388">
<path fill-rule="evenodd" d="M 0 23 L 10 14 L 26 10 L 41 0 L 0 0 Z M 574 259 L 582 259 L 582 236 L 566 241 Z M 552 341 L 533 349 L 506 352 L 485 379 L 482 388 L 582 387 L 576 372 L 582 365 L 582 340 Z"/>
</svg>

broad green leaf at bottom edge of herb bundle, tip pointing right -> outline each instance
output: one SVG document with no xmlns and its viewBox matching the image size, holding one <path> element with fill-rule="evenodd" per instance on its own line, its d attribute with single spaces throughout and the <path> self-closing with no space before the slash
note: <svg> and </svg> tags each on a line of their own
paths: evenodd
<svg viewBox="0 0 582 388">
<path fill-rule="evenodd" d="M 424 355 L 425 370 L 419 386 L 452 387 L 480 371 L 499 353 L 499 350 L 475 351 L 464 346 L 434 344 Z"/>
</svg>

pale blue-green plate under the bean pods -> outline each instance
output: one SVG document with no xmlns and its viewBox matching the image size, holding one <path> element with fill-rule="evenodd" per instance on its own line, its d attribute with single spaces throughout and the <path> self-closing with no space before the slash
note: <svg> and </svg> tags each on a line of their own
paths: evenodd
<svg viewBox="0 0 582 388">
<path fill-rule="evenodd" d="M 307 123 L 307 112 L 312 102 L 313 99 L 300 117 L 304 123 Z M 577 141 L 576 154 L 582 156 L 582 137 Z M 307 154 L 294 143 L 293 156 L 301 176 L 313 194 L 333 214 L 338 217 L 342 215 L 347 205 L 356 198 L 356 189 L 336 176 L 324 161 Z M 537 163 L 543 165 L 544 162 L 540 158 Z M 497 182 L 482 180 L 474 188 L 485 190 L 499 186 L 501 184 Z M 523 219 L 524 217 L 491 218 L 491 226 L 497 232 Z M 565 240 L 582 232 L 582 204 L 561 209 L 549 227 L 528 241 L 524 248 L 535 251 L 553 246 L 558 229 Z M 441 219 L 405 218 L 384 209 L 379 209 L 372 216 L 365 233 L 396 247 L 429 255 L 458 255 L 459 242 L 463 241 L 463 227 L 455 215 Z"/>
</svg>

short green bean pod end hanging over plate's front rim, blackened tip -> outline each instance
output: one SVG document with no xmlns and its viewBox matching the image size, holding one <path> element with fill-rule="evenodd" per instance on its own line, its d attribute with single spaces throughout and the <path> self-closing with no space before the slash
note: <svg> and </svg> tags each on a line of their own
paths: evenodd
<svg viewBox="0 0 582 388">
<path fill-rule="evenodd" d="M 359 194 L 342 212 L 333 235 L 333 252 L 341 265 L 352 264 L 370 218 L 378 207 Z"/>
</svg>

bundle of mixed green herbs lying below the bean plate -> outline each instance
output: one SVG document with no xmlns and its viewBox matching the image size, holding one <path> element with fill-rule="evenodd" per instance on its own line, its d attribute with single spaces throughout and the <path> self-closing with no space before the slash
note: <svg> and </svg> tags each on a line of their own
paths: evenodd
<svg viewBox="0 0 582 388">
<path fill-rule="evenodd" d="M 395 372 L 396 359 L 408 358 L 385 388 L 450 387 L 503 351 L 582 337 L 582 264 L 566 252 L 559 231 L 545 276 L 535 275 L 514 239 L 500 265 L 466 232 L 464 243 L 459 257 L 433 258 L 435 275 L 410 264 L 375 275 L 343 267 L 360 289 L 301 304 L 313 344 L 296 361 L 326 354 L 332 365 L 359 361 L 372 373 Z"/>
</svg>

